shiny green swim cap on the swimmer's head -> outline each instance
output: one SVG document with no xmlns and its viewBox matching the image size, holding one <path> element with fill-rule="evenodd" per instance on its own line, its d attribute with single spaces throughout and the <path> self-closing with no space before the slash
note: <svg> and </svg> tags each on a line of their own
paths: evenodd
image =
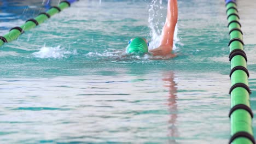
<svg viewBox="0 0 256 144">
<path fill-rule="evenodd" d="M 137 37 L 129 41 L 129 45 L 126 48 L 126 53 L 146 53 L 148 52 L 148 43 L 145 39 Z"/>
</svg>

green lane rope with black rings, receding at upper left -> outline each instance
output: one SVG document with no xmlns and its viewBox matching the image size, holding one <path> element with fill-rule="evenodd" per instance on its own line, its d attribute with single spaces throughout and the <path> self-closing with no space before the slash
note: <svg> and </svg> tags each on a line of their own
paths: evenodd
<svg viewBox="0 0 256 144">
<path fill-rule="evenodd" d="M 30 29 L 40 25 L 45 20 L 49 19 L 51 16 L 59 13 L 65 8 L 70 7 L 72 3 L 78 0 L 69 0 L 69 1 L 62 1 L 59 5 L 51 7 L 48 11 L 45 13 L 40 13 L 37 17 L 34 19 L 29 19 L 25 22 L 24 25 L 20 27 L 14 27 L 11 28 L 9 33 L 0 36 L 0 46 L 2 46 L 4 43 L 9 43 L 10 41 L 13 41 L 19 37 L 22 33 L 29 31 Z"/>
</svg>

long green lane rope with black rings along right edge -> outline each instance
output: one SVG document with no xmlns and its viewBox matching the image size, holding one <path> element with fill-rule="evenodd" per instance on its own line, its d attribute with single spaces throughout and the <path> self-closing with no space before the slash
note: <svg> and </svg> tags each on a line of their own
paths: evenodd
<svg viewBox="0 0 256 144">
<path fill-rule="evenodd" d="M 254 144 L 252 129 L 253 112 L 250 107 L 251 90 L 248 84 L 247 56 L 243 51 L 243 32 L 238 16 L 236 0 L 225 0 L 230 41 L 229 61 L 231 62 L 231 109 L 229 112 L 231 138 L 229 143 Z"/>
</svg>

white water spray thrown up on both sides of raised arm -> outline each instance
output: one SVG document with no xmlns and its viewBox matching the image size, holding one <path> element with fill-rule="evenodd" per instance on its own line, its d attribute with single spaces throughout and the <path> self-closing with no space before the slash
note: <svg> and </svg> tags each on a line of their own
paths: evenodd
<svg viewBox="0 0 256 144">
<path fill-rule="evenodd" d="M 161 42 L 161 32 L 162 27 L 165 25 L 165 19 L 166 19 L 166 4 L 163 4 L 162 1 L 153 0 L 149 5 L 149 28 L 150 31 L 150 37 L 151 41 L 149 43 L 149 49 L 154 49 L 155 47 L 158 47 Z M 173 50 L 177 50 L 176 44 L 179 43 L 178 38 L 178 25 L 175 27 L 174 31 L 174 37 L 173 37 Z"/>
</svg>

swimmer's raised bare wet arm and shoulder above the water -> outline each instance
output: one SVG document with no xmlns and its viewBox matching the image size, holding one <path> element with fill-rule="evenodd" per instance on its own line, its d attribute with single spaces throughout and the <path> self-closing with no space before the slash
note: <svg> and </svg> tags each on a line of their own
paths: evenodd
<svg viewBox="0 0 256 144">
<path fill-rule="evenodd" d="M 153 56 L 163 56 L 164 58 L 175 57 L 171 53 L 173 47 L 173 35 L 176 23 L 178 21 L 177 0 L 168 0 L 167 16 L 165 26 L 162 28 L 161 44 L 158 48 L 150 50 Z"/>
</svg>

